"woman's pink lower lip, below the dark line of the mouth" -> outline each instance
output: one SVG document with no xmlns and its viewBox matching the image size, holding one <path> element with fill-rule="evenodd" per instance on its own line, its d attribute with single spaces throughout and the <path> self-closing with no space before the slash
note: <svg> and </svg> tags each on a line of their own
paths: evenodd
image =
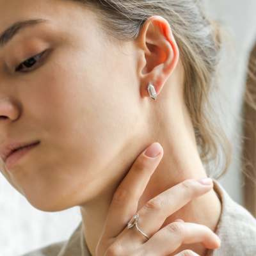
<svg viewBox="0 0 256 256">
<path fill-rule="evenodd" d="M 19 161 L 19 159 L 22 156 L 27 154 L 29 151 L 33 150 L 33 148 L 35 148 L 39 143 L 40 143 L 40 141 L 36 141 L 35 143 L 31 143 L 29 145 L 15 148 L 15 150 L 12 150 L 12 152 L 10 152 L 10 154 L 8 154 L 8 156 L 6 157 L 6 159 L 4 161 L 6 169 L 10 170 L 13 167 L 13 165 L 15 163 L 17 163 L 17 161 Z"/>
</svg>

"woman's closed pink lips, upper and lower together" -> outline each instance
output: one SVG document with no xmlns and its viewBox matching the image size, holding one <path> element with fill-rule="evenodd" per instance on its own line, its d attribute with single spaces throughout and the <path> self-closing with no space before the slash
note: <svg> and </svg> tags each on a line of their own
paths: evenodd
<svg viewBox="0 0 256 256">
<path fill-rule="evenodd" d="M 0 156 L 3 159 L 6 169 L 10 170 L 13 164 L 16 163 L 22 156 L 36 147 L 40 141 L 26 142 L 26 143 L 6 143 L 0 148 Z"/>
</svg>

